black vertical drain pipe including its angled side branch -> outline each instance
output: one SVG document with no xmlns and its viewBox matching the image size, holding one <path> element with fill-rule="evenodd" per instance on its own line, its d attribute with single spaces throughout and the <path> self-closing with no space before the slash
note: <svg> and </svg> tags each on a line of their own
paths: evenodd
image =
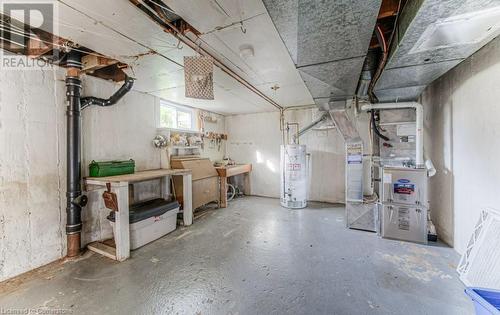
<svg viewBox="0 0 500 315">
<path fill-rule="evenodd" d="M 82 69 L 81 54 L 77 51 L 68 53 L 66 66 L 66 98 L 68 106 L 67 117 L 67 182 L 66 182 L 66 235 L 68 237 L 67 256 L 78 256 L 81 247 L 82 207 L 87 204 L 87 196 L 81 188 L 81 110 L 90 105 L 111 106 L 116 104 L 132 89 L 132 78 L 126 77 L 125 83 L 110 98 L 81 98 L 82 84 L 80 71 Z"/>
</svg>

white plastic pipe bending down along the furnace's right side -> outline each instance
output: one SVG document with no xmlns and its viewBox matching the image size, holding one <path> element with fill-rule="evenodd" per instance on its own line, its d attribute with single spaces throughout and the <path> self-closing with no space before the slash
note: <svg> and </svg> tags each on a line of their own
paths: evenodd
<svg viewBox="0 0 500 315">
<path fill-rule="evenodd" d="M 401 103 L 378 103 L 361 106 L 361 110 L 384 110 L 384 109 L 404 109 L 413 108 L 416 113 L 416 164 L 417 167 L 424 166 L 424 107 L 417 102 Z"/>
</svg>

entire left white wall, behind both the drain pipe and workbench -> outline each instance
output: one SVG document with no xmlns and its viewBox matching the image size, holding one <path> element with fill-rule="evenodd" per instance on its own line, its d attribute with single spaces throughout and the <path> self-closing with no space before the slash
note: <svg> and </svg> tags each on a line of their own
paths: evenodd
<svg viewBox="0 0 500 315">
<path fill-rule="evenodd" d="M 84 77 L 84 96 L 109 97 L 119 84 Z M 160 167 L 156 99 L 131 91 L 109 108 L 82 114 L 82 171 L 92 160 L 128 159 L 136 169 Z M 0 281 L 63 257 L 66 253 L 66 103 L 64 71 L 0 72 Z M 222 116 L 219 116 L 222 117 Z M 208 128 L 224 131 L 223 119 Z M 207 128 L 207 129 L 208 129 Z M 216 150 L 217 151 L 217 150 Z M 224 152 L 202 154 L 220 158 Z M 155 196 L 155 183 L 135 190 Z M 111 237 L 101 194 L 88 193 L 82 243 Z"/>
</svg>

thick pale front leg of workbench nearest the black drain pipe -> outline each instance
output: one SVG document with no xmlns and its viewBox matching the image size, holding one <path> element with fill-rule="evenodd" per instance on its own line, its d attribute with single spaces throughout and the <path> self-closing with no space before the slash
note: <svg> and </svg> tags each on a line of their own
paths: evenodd
<svg viewBox="0 0 500 315">
<path fill-rule="evenodd" d="M 118 199 L 118 212 L 115 212 L 116 260 L 124 261 L 130 257 L 128 183 L 120 183 L 113 191 Z"/>
</svg>

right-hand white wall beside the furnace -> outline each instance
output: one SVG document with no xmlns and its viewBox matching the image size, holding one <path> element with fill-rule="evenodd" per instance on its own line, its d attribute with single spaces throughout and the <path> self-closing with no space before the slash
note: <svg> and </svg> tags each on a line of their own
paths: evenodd
<svg viewBox="0 0 500 315">
<path fill-rule="evenodd" d="M 430 181 L 438 233 L 463 253 L 479 212 L 500 208 L 500 37 L 435 81 L 422 95 L 430 111 Z"/>
</svg>

